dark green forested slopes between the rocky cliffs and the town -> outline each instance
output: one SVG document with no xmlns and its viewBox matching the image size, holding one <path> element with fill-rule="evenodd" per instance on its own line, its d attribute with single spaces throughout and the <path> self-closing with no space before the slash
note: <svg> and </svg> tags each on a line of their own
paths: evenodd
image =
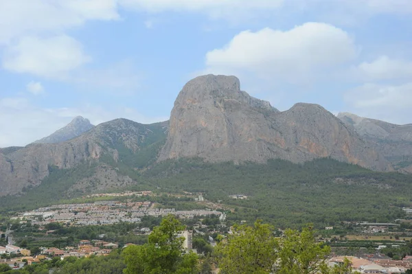
<svg viewBox="0 0 412 274">
<path fill-rule="evenodd" d="M 120 174 L 138 182 L 128 189 L 204 192 L 207 200 L 235 209 L 227 212 L 231 222 L 253 223 L 260 218 L 281 228 L 297 228 L 308 222 L 321 228 L 343 220 L 392 222 L 404 217 L 400 207 L 412 205 L 412 176 L 373 172 L 332 159 L 304 164 L 273 160 L 242 165 L 181 159 L 158 163 L 146 170 L 134 170 L 126 160 L 117 164 Z M 67 189 L 91 174 L 93 163 L 71 170 L 52 168 L 43 183 L 24 196 L 1 198 L 0 210 L 7 213 L 33 209 L 72 198 L 67 196 Z M 235 200 L 229 198 L 231 194 L 248 198 Z M 176 209 L 198 208 L 191 201 L 163 198 L 163 202 L 163 206 Z"/>
</svg>

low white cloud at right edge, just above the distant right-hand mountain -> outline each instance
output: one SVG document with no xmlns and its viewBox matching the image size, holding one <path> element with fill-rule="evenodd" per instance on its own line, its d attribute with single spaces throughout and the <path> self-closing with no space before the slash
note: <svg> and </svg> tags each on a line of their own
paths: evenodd
<svg viewBox="0 0 412 274">
<path fill-rule="evenodd" d="M 401 85 L 364 84 L 344 95 L 349 109 L 358 115 L 407 124 L 412 117 L 412 82 Z"/>
</svg>

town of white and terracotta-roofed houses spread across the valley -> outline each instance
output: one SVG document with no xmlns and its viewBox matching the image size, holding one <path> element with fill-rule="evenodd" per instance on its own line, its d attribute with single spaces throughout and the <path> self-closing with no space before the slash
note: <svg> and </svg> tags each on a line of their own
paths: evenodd
<svg viewBox="0 0 412 274">
<path fill-rule="evenodd" d="M 234 222 L 227 220 L 227 214 L 236 212 L 230 207 L 211 203 L 202 194 L 168 194 L 174 201 L 205 206 L 176 210 L 150 198 L 157 195 L 152 192 L 93 194 L 82 197 L 88 203 L 49 205 L 17 212 L 10 216 L 9 227 L 3 225 L 5 231 L 0 232 L 0 264 L 21 269 L 27 264 L 56 258 L 106 256 L 114 250 L 145 242 L 152 227 L 169 214 L 185 224 L 186 230 L 179 236 L 184 238 L 182 248 L 186 252 L 206 254 L 219 238 L 233 233 Z M 236 194 L 230 198 L 247 199 L 247 196 Z M 412 269 L 412 256 L 404 255 L 405 250 L 412 248 L 412 213 L 409 208 L 402 210 L 407 218 L 394 222 L 347 221 L 319 229 L 317 242 L 332 249 L 328 264 L 340 265 L 348 260 L 359 273 L 400 274 Z M 248 224 L 247 220 L 239 223 Z M 123 235 L 120 235 L 123 232 L 113 233 L 124 229 L 128 232 Z M 282 237 L 284 231 L 277 229 L 275 233 Z"/>
</svg>

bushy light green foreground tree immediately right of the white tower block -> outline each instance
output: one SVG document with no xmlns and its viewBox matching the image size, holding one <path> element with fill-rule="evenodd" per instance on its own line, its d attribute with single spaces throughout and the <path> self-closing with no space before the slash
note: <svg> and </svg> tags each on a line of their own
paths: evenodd
<svg viewBox="0 0 412 274">
<path fill-rule="evenodd" d="M 277 260 L 278 242 L 273 227 L 259 220 L 254 227 L 235 226 L 227 240 L 218 245 L 221 273 L 272 273 Z"/>
</svg>

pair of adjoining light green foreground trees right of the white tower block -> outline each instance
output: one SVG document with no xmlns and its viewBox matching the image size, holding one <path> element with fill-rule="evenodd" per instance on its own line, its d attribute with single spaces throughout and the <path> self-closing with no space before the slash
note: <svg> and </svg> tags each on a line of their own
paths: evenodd
<svg viewBox="0 0 412 274">
<path fill-rule="evenodd" d="M 286 230 L 275 238 L 273 228 L 256 222 L 254 227 L 235 227 L 227 240 L 220 242 L 219 267 L 224 274 L 347 274 L 349 261 L 330 268 L 330 247 L 317 243 L 310 227 Z"/>
</svg>

